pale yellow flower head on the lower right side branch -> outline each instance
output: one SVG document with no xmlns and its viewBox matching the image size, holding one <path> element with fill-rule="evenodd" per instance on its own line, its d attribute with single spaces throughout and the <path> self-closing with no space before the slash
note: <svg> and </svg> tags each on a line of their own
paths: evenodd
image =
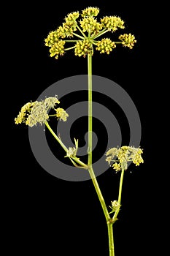
<svg viewBox="0 0 170 256">
<path fill-rule="evenodd" d="M 128 162 L 133 162 L 136 166 L 143 163 L 141 154 L 143 153 L 141 148 L 134 148 L 131 146 L 122 146 L 121 148 L 110 148 L 107 151 L 106 161 L 112 164 L 113 169 L 118 170 L 127 170 Z"/>
</svg>

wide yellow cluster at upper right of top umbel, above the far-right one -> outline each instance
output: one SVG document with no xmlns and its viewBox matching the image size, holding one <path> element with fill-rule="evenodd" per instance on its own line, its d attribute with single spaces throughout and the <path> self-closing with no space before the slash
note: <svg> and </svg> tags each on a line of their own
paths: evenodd
<svg viewBox="0 0 170 256">
<path fill-rule="evenodd" d="M 101 19 L 101 24 L 103 28 L 115 32 L 117 28 L 125 29 L 124 21 L 117 16 L 105 16 Z"/>
</svg>

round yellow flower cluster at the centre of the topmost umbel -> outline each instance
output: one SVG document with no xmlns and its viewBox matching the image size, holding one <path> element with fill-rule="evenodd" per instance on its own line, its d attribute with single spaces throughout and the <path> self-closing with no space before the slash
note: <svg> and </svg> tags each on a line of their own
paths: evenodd
<svg viewBox="0 0 170 256">
<path fill-rule="evenodd" d="M 80 26 L 83 32 L 90 33 L 92 37 L 102 29 L 101 23 L 98 23 L 96 18 L 93 17 L 85 17 L 80 20 Z"/>
</svg>

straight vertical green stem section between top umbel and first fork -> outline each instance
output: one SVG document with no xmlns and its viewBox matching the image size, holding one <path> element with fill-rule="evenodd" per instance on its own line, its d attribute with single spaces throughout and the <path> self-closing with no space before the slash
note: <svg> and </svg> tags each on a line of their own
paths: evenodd
<svg viewBox="0 0 170 256">
<path fill-rule="evenodd" d="M 92 56 L 88 54 L 88 165 L 92 165 Z"/>
</svg>

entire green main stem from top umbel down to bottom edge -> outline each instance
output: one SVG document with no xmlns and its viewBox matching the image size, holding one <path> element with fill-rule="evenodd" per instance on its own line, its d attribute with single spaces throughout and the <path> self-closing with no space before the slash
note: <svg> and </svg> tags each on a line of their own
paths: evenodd
<svg viewBox="0 0 170 256">
<path fill-rule="evenodd" d="M 96 189 L 96 193 L 98 195 L 98 199 L 101 203 L 101 207 L 104 211 L 104 216 L 107 220 L 107 229 L 108 229 L 108 238 L 109 238 L 109 256 L 115 256 L 115 249 L 114 249 L 114 240 L 113 240 L 113 229 L 112 229 L 112 220 L 109 216 L 109 212 L 107 210 L 106 203 L 104 202 L 104 197 L 101 194 L 101 189 L 98 186 L 98 182 L 96 180 L 95 173 L 93 172 L 92 166 L 92 56 L 88 54 L 88 171 L 90 174 L 90 178 L 93 181 L 93 185 Z"/>
</svg>

